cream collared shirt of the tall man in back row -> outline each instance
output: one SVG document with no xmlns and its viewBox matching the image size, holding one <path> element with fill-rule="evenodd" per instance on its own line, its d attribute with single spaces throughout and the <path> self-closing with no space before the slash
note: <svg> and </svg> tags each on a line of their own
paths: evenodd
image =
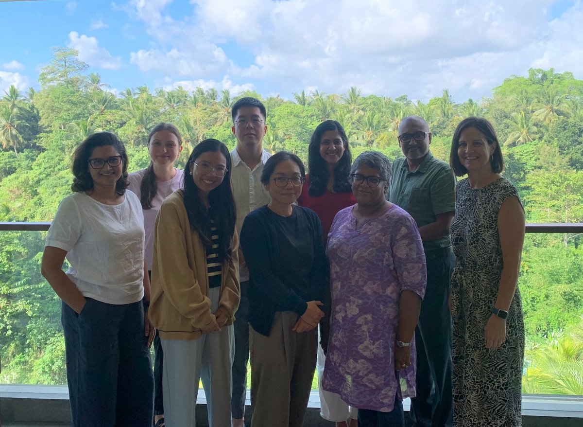
<svg viewBox="0 0 583 427">
<path fill-rule="evenodd" d="M 271 154 L 263 150 L 261 160 L 251 170 L 237 152 L 237 148 L 231 151 L 231 186 L 233 187 L 233 197 L 235 208 L 237 209 L 237 233 L 241 233 L 241 227 L 247 213 L 261 208 L 271 201 L 269 192 L 261 184 L 261 173 L 267 159 Z M 239 266 L 239 279 L 241 282 L 249 280 L 248 269 Z"/>
</svg>

